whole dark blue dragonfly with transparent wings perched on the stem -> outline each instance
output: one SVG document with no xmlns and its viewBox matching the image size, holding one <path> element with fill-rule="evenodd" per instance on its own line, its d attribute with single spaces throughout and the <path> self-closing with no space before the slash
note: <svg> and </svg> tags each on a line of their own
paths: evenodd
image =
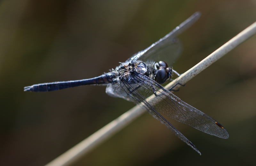
<svg viewBox="0 0 256 166">
<path fill-rule="evenodd" d="M 219 122 L 172 94 L 173 87 L 167 90 L 161 85 L 172 81 L 174 73 L 179 76 L 172 68 L 173 62 L 182 52 L 182 44 L 176 36 L 193 25 L 200 15 L 200 12 L 194 13 L 162 39 L 132 55 L 108 73 L 90 79 L 34 84 L 24 87 L 24 91 L 45 92 L 81 85 L 105 84 L 108 95 L 140 105 L 201 155 L 195 145 L 160 114 L 204 133 L 228 138 L 227 130 Z"/>
</svg>

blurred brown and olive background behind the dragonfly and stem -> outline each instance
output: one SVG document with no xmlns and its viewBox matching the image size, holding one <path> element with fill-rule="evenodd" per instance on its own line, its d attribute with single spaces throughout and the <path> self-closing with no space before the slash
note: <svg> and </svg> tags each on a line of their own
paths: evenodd
<svg viewBox="0 0 256 166">
<path fill-rule="evenodd" d="M 256 21 L 255 0 L 2 0 L 0 165 L 43 166 L 134 106 L 105 86 L 29 93 L 37 83 L 100 76 L 196 11 L 179 38 L 183 73 Z M 256 36 L 174 94 L 220 122 L 221 139 L 168 119 L 202 153 L 148 113 L 73 165 L 255 165 Z"/>
</svg>

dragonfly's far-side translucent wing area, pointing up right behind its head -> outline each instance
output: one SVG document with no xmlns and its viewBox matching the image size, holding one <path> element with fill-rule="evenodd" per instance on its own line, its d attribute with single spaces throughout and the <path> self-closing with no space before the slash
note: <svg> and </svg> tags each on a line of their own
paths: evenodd
<svg viewBox="0 0 256 166">
<path fill-rule="evenodd" d="M 127 61 L 131 60 L 153 60 L 153 61 L 166 61 L 169 66 L 178 59 L 182 52 L 182 44 L 177 35 L 188 29 L 200 17 L 200 12 L 194 13 L 187 20 L 177 26 L 172 32 L 165 35 L 162 39 L 153 43 L 151 46 L 137 54 L 132 55 Z"/>
</svg>

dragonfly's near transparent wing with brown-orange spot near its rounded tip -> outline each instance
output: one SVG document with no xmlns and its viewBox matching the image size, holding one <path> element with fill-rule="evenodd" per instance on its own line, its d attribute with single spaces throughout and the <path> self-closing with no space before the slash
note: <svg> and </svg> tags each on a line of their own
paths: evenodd
<svg viewBox="0 0 256 166">
<path fill-rule="evenodd" d="M 215 135 L 220 138 L 228 138 L 227 130 L 216 120 L 203 112 L 188 105 L 164 89 L 161 85 L 139 73 L 131 75 L 133 82 L 139 84 L 135 89 L 142 98 L 148 98 L 147 102 L 158 112 L 175 119 L 181 123 L 196 128 L 204 133 Z M 153 95 L 152 95 L 153 94 Z"/>
</svg>

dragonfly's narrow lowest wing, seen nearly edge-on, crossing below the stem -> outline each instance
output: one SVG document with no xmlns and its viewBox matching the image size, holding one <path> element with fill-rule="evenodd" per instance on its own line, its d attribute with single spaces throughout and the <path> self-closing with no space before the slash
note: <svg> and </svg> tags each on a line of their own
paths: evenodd
<svg viewBox="0 0 256 166">
<path fill-rule="evenodd" d="M 187 143 L 190 147 L 196 150 L 197 153 L 201 155 L 201 153 L 197 150 L 197 148 L 190 142 L 183 134 L 181 134 L 174 126 L 172 126 L 162 115 L 160 115 L 154 107 L 147 102 L 143 95 L 138 92 L 140 89 L 140 83 L 129 83 L 127 81 L 120 81 L 115 84 L 108 84 L 106 92 L 110 96 L 113 97 L 121 97 L 128 101 L 132 101 L 137 105 L 142 106 L 145 110 L 147 110 L 154 118 L 159 120 L 165 126 L 167 126 L 178 138 Z"/>
</svg>

